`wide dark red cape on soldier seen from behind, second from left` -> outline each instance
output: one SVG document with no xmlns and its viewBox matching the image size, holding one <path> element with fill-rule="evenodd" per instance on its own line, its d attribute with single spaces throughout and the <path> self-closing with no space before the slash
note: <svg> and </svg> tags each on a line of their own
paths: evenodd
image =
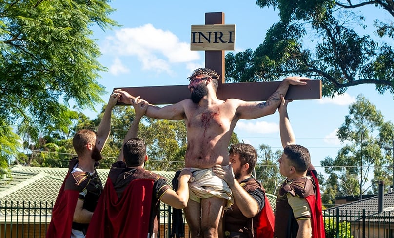
<svg viewBox="0 0 394 238">
<path fill-rule="evenodd" d="M 148 237 L 153 182 L 153 179 L 133 180 L 118 198 L 108 178 L 86 238 Z"/>
</svg>

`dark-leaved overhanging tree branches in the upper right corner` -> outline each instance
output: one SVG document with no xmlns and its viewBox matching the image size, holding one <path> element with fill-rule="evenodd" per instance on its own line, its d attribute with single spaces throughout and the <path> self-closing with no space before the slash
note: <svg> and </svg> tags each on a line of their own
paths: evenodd
<svg viewBox="0 0 394 238">
<path fill-rule="evenodd" d="M 365 20 L 375 8 L 394 17 L 393 1 L 256 0 L 280 20 L 255 51 L 226 55 L 226 80 L 277 80 L 297 74 L 322 80 L 323 96 L 371 83 L 394 94 L 394 24 Z M 365 34 L 371 32 L 374 35 Z"/>
</svg>

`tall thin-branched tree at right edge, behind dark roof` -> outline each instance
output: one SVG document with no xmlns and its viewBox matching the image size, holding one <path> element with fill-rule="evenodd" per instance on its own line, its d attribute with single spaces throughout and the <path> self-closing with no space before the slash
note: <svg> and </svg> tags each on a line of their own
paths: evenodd
<svg viewBox="0 0 394 238">
<path fill-rule="evenodd" d="M 365 193 L 377 193 L 379 180 L 391 184 L 389 168 L 393 161 L 391 151 L 384 148 L 391 145 L 393 133 L 393 124 L 385 122 L 381 112 L 364 96 L 358 95 L 337 132 L 344 143 L 343 148 L 335 159 L 327 157 L 321 161 L 329 174 L 325 184 L 326 188 L 331 189 L 328 194 L 358 197 Z"/>
</svg>

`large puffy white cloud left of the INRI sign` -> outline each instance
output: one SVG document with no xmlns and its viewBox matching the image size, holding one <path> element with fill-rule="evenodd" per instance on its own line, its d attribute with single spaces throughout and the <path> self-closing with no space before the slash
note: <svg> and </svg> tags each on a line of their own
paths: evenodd
<svg viewBox="0 0 394 238">
<path fill-rule="evenodd" d="M 171 73 L 172 63 L 188 63 L 200 59 L 190 44 L 180 42 L 170 31 L 156 29 L 152 24 L 122 28 L 107 37 L 101 47 L 104 54 L 136 56 L 144 70 Z"/>
</svg>

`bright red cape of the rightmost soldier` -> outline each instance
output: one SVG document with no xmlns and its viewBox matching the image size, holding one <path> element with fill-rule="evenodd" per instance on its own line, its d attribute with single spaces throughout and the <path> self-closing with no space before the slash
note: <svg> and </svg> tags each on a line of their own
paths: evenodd
<svg viewBox="0 0 394 238">
<path fill-rule="evenodd" d="M 317 177 L 312 171 L 308 171 L 307 175 L 312 176 L 316 185 L 316 197 L 309 196 L 305 198 L 309 204 L 309 207 L 311 208 L 311 213 L 315 214 L 315 216 L 312 216 L 311 218 L 312 236 L 313 238 L 325 238 L 326 233 L 324 231 L 323 215 L 321 211 L 322 203 L 320 196 L 319 181 L 317 180 Z"/>
</svg>

